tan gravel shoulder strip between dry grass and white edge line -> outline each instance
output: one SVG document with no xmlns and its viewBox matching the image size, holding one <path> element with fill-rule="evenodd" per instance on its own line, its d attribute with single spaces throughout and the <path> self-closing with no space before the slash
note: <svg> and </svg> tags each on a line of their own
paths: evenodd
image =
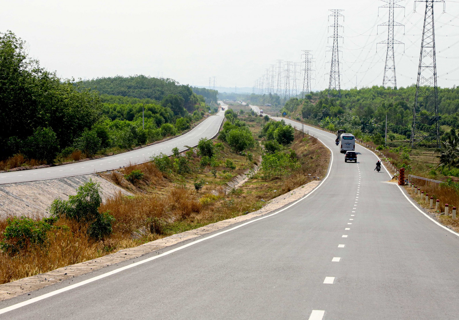
<svg viewBox="0 0 459 320">
<path fill-rule="evenodd" d="M 218 221 L 197 229 L 177 233 L 169 237 L 151 241 L 138 247 L 123 249 L 116 253 L 107 254 L 106 256 L 100 258 L 84 261 L 75 265 L 68 265 L 66 267 L 52 270 L 50 272 L 40 273 L 35 276 L 30 276 L 27 278 L 19 279 L 17 281 L 2 284 L 0 285 L 0 301 L 17 297 L 19 295 L 50 286 L 60 281 L 65 281 L 74 276 L 80 276 L 109 265 L 123 262 L 125 260 L 139 258 L 144 254 L 148 254 L 185 240 L 224 229 L 227 226 L 233 225 L 235 223 L 247 221 L 261 215 L 266 215 L 270 212 L 282 208 L 286 204 L 290 204 L 291 202 L 306 196 L 308 193 L 313 191 L 313 189 L 316 188 L 319 183 L 320 181 L 318 180 L 308 182 L 307 184 L 302 185 L 288 193 L 271 199 L 262 209 L 251 212 L 247 215 L 240 215 L 235 218 Z"/>
</svg>

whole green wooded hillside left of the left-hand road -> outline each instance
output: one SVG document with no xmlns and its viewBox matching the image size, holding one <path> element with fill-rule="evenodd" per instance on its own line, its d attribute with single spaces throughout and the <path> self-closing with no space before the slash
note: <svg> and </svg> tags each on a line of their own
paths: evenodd
<svg viewBox="0 0 459 320">
<path fill-rule="evenodd" d="M 0 33 L 0 160 L 22 153 L 51 164 L 76 150 L 93 156 L 129 149 L 187 130 L 211 109 L 172 79 L 62 81 L 25 47 L 13 33 Z"/>
</svg>

